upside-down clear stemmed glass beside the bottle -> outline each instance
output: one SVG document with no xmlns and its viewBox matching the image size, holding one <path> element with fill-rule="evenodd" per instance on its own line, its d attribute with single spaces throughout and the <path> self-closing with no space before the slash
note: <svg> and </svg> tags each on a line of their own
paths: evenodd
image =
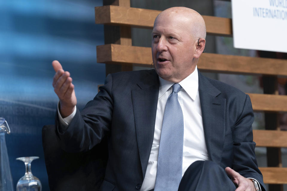
<svg viewBox="0 0 287 191">
<path fill-rule="evenodd" d="M 17 191 L 41 191 L 42 185 L 40 180 L 33 176 L 31 172 L 31 162 L 34 159 L 38 159 L 37 156 L 30 156 L 30 157 L 20 157 L 16 158 L 16 160 L 23 161 L 25 163 L 26 172 L 25 175 L 19 179 L 17 182 L 16 189 Z"/>
</svg>

